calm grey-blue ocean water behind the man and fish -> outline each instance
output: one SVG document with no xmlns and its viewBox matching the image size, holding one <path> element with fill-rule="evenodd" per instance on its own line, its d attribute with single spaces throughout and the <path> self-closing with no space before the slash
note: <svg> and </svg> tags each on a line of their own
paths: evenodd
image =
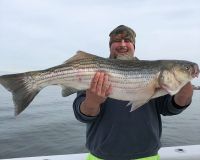
<svg viewBox="0 0 200 160">
<path fill-rule="evenodd" d="M 0 86 L 0 158 L 87 152 L 85 124 L 73 114 L 75 94 L 61 97 L 59 87 L 42 90 L 19 116 L 12 96 Z M 163 146 L 200 144 L 200 91 L 182 114 L 163 117 Z"/>
</svg>

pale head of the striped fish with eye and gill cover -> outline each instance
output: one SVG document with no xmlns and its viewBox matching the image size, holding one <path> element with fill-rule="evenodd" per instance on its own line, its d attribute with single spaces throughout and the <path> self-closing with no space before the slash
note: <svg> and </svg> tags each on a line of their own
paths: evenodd
<svg viewBox="0 0 200 160">
<path fill-rule="evenodd" d="M 186 83 L 199 76 L 199 66 L 189 61 L 168 61 L 162 68 L 159 84 L 170 95 L 176 94 Z"/>
</svg>

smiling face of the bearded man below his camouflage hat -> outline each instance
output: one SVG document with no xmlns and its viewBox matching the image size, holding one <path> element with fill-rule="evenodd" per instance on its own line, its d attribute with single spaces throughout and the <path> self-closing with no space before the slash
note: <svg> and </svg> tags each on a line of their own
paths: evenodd
<svg viewBox="0 0 200 160">
<path fill-rule="evenodd" d="M 113 38 L 110 46 L 110 58 L 116 59 L 118 56 L 133 57 L 135 52 L 134 44 L 126 37 L 118 34 Z"/>
</svg>

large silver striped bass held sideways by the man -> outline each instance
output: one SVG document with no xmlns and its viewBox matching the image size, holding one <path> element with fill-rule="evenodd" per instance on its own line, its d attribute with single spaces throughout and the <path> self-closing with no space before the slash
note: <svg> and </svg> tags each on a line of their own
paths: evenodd
<svg viewBox="0 0 200 160">
<path fill-rule="evenodd" d="M 198 64 L 185 60 L 110 59 L 78 51 L 63 64 L 37 71 L 0 76 L 0 84 L 12 93 L 15 115 L 20 114 L 35 96 L 49 85 L 62 87 L 67 97 L 90 88 L 96 72 L 109 76 L 109 97 L 128 101 L 131 111 L 153 98 L 174 95 L 199 76 Z"/>
</svg>

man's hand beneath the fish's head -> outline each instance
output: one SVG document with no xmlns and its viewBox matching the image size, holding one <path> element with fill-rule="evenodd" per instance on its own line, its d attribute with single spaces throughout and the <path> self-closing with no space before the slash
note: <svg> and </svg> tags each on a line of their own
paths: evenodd
<svg viewBox="0 0 200 160">
<path fill-rule="evenodd" d="M 191 103 L 193 95 L 193 87 L 191 82 L 188 82 L 175 96 L 174 101 L 179 106 L 186 106 Z"/>
</svg>

